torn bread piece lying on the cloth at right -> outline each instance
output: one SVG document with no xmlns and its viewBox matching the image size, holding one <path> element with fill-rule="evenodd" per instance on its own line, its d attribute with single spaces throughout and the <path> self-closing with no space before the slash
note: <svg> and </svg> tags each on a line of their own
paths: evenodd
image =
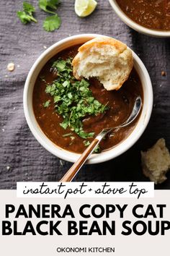
<svg viewBox="0 0 170 256">
<path fill-rule="evenodd" d="M 151 182 L 160 184 L 164 182 L 166 173 L 170 168 L 170 153 L 163 138 L 159 139 L 152 148 L 146 152 L 141 151 L 143 174 Z"/>
</svg>

